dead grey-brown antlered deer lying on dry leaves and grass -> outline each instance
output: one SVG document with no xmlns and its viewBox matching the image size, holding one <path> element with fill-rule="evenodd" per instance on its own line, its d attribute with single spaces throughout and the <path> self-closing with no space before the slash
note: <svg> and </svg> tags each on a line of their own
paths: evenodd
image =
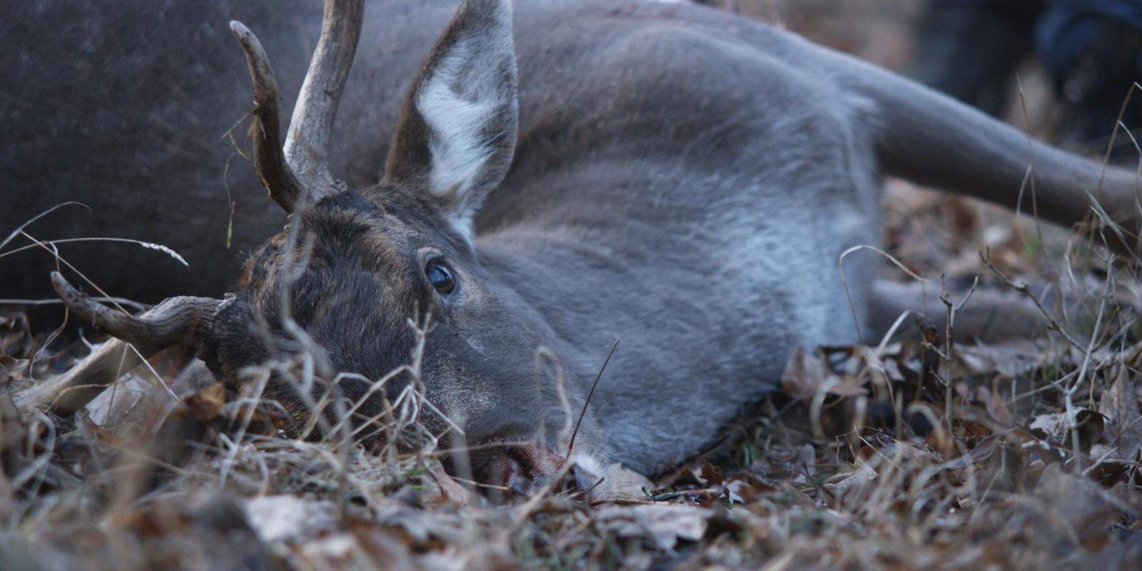
<svg viewBox="0 0 1142 571">
<path fill-rule="evenodd" d="M 652 474 L 772 389 L 795 347 L 861 341 L 861 325 L 892 307 L 876 295 L 877 256 L 847 257 L 847 291 L 838 271 L 842 252 L 880 241 L 884 175 L 1028 211 L 1034 198 L 1043 218 L 1095 220 L 1112 247 L 1136 247 L 1135 174 L 1030 143 L 875 65 L 705 7 L 520 2 L 513 13 L 507 1 L 469 0 L 452 16 L 441 2 L 377 2 L 364 17 L 361 0 L 328 0 L 284 138 L 283 82 L 251 29 L 266 22 L 290 55 L 301 41 L 290 34 L 301 34 L 281 14 L 251 11 L 249 29 L 231 29 L 254 83 L 252 162 L 287 228 L 249 256 L 233 293 L 175 297 L 139 316 L 53 274 L 67 307 L 119 340 L 21 394 L 23 407 L 82 407 L 121 359 L 137 362 L 127 344 L 143 357 L 188 346 L 231 387 L 251 367 L 307 354 L 319 377 L 352 373 L 336 387 L 364 421 L 384 410 L 371 381 L 417 354 L 416 378 L 434 405 L 421 421 L 433 434 L 456 425 L 473 444 L 538 439 L 474 457 L 478 473 L 537 475 L 568 461 L 595 476 L 616 463 Z M 296 64 L 287 67 L 297 77 Z M 162 77 L 183 73 L 216 71 L 174 66 Z M 201 93 L 169 89 L 176 108 Z M 348 110 L 336 122 L 344 138 L 333 134 L 339 106 Z M 43 135 L 83 132 L 77 124 Z M 216 171 L 219 152 L 207 155 Z M 348 159 L 362 162 L 345 167 L 352 184 L 330 167 Z M 6 163 L 33 160 L 6 151 Z M 156 194 L 118 195 L 115 224 L 145 225 L 150 241 L 174 236 L 206 264 L 201 283 L 220 283 L 225 264 L 209 257 L 224 250 L 199 255 L 193 242 L 219 240 L 225 216 L 203 223 L 192 211 L 200 204 L 160 192 L 169 175 L 161 163 L 139 160 L 142 186 Z M 383 166 L 379 182 L 363 184 Z M 1034 196 L 1021 192 L 1029 176 Z M 223 178 L 211 180 L 220 196 Z M 161 216 L 132 219 L 142 201 Z M 246 232 L 283 222 L 276 212 L 238 224 Z M 206 228 L 215 233 L 200 238 Z M 164 276 L 155 283 L 171 287 Z M 421 338 L 410 322 L 431 332 Z M 616 338 L 621 347 L 584 409 Z M 392 379 L 387 393 L 412 376 Z M 275 376 L 263 396 L 304 415 L 324 391 L 315 383 L 298 394 Z M 580 409 L 566 459 L 568 411 Z"/>
</svg>

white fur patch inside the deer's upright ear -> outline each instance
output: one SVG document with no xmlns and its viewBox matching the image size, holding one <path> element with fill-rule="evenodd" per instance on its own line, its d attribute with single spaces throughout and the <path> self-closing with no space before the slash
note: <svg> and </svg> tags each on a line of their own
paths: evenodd
<svg viewBox="0 0 1142 571">
<path fill-rule="evenodd" d="M 469 240 L 472 219 L 488 191 L 475 186 L 501 136 L 486 129 L 497 113 L 510 108 L 509 98 L 515 96 L 498 71 L 500 62 L 510 57 L 509 26 L 460 38 L 417 93 L 417 111 L 432 132 L 429 192 L 450 206 L 449 222 Z"/>
</svg>

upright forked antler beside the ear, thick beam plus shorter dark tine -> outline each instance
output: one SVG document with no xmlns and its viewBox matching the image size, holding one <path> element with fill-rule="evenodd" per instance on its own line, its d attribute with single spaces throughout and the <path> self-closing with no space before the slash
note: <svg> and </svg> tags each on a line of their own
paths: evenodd
<svg viewBox="0 0 1142 571">
<path fill-rule="evenodd" d="M 278 81 L 270 57 L 241 22 L 230 23 L 242 43 L 254 83 L 255 169 L 262 186 L 287 212 L 341 186 L 329 172 L 329 137 L 363 18 L 363 0 L 325 0 L 321 39 L 301 83 L 284 147 L 278 121 Z"/>
</svg>

